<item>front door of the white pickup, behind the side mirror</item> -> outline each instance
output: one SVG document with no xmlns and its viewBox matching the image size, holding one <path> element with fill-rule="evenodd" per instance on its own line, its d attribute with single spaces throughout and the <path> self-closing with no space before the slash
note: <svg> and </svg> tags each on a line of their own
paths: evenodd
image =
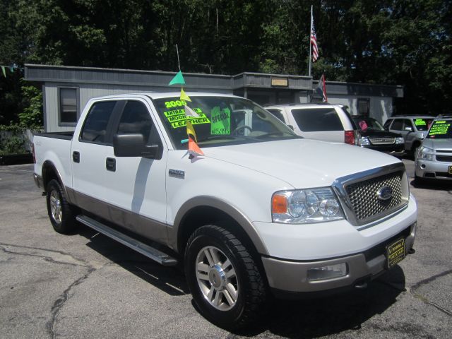
<svg viewBox="0 0 452 339">
<path fill-rule="evenodd" d="M 142 133 L 148 145 L 162 146 L 150 107 L 144 100 L 127 100 L 113 133 Z M 105 161 L 114 168 L 104 170 L 105 194 L 110 215 L 129 230 L 158 242 L 167 241 L 165 172 L 167 153 L 159 159 L 116 157 L 106 148 Z M 114 221 L 114 220 L 113 220 Z"/>
</svg>

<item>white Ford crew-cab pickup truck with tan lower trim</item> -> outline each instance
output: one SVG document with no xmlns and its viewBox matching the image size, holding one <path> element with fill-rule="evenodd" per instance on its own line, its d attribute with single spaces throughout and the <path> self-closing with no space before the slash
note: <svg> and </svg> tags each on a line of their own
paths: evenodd
<svg viewBox="0 0 452 339">
<path fill-rule="evenodd" d="M 242 97 L 188 95 L 96 98 L 73 133 L 35 136 L 54 230 L 81 222 L 183 263 L 199 311 L 228 329 L 270 295 L 366 287 L 410 253 L 417 207 L 396 157 L 304 139 Z M 187 151 L 187 120 L 204 155 Z"/>
</svg>

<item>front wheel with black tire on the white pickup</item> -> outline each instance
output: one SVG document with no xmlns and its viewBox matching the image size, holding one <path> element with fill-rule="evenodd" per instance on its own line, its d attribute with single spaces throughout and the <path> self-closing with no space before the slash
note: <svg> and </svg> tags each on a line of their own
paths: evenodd
<svg viewBox="0 0 452 339">
<path fill-rule="evenodd" d="M 217 257 L 213 261 L 218 265 L 208 265 L 208 253 Z M 233 331 L 250 326 L 265 311 L 261 272 L 234 234 L 215 225 L 198 228 L 187 242 L 184 260 L 191 295 L 208 321 Z"/>
</svg>

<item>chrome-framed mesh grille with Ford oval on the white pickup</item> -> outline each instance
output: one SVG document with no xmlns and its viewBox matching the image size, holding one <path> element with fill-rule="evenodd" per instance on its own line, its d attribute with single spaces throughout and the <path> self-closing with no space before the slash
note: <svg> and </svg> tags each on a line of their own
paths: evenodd
<svg viewBox="0 0 452 339">
<path fill-rule="evenodd" d="M 333 188 L 347 220 L 356 227 L 375 225 L 377 220 L 406 206 L 410 198 L 408 177 L 401 162 L 338 178 Z"/>
</svg>

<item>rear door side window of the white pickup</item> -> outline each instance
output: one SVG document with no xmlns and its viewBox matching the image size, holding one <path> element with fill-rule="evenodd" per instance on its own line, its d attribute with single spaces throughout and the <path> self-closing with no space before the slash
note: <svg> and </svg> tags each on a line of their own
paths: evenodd
<svg viewBox="0 0 452 339">
<path fill-rule="evenodd" d="M 91 107 L 83 124 L 80 141 L 106 143 L 107 125 L 112 115 L 115 101 L 96 102 Z"/>
</svg>

